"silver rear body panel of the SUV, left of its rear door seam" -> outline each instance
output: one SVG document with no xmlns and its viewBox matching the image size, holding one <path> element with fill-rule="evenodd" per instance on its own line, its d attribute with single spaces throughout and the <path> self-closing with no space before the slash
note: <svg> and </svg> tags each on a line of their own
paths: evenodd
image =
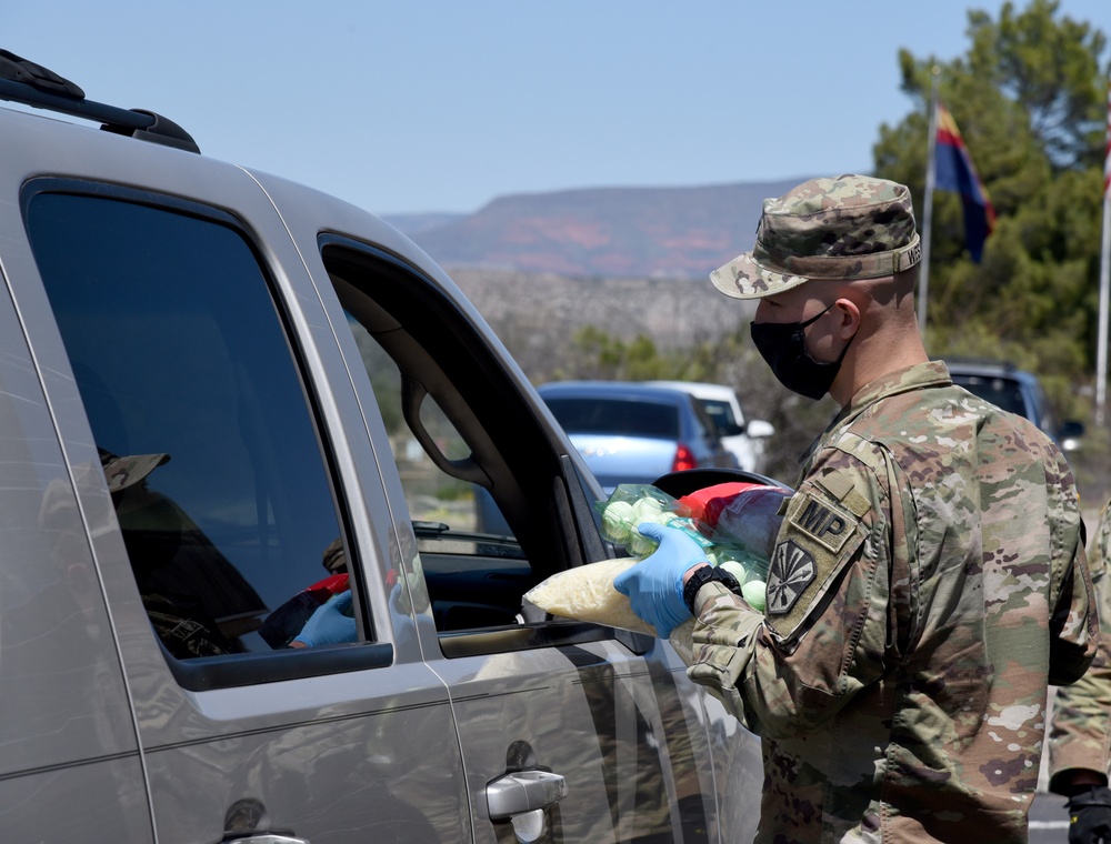
<svg viewBox="0 0 1111 844">
<path fill-rule="evenodd" d="M 48 404 L 33 328 L 9 295 L 34 268 L 18 237 L 21 173 L 0 148 L 0 830 L 7 841 L 151 842 L 134 719 L 78 509 L 84 479 L 67 465 L 54 435 L 66 408 Z"/>
</svg>

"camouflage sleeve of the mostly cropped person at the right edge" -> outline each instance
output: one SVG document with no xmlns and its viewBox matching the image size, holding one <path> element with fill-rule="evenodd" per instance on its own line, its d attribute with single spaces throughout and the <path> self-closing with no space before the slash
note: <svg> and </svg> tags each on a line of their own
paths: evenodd
<svg viewBox="0 0 1111 844">
<path fill-rule="evenodd" d="M 1089 563 L 1099 600 L 1100 643 L 1092 666 L 1057 692 L 1049 731 L 1050 790 L 1064 793 L 1063 774 L 1078 768 L 1107 774 L 1111 763 L 1111 502 L 1100 514 Z"/>
</svg>

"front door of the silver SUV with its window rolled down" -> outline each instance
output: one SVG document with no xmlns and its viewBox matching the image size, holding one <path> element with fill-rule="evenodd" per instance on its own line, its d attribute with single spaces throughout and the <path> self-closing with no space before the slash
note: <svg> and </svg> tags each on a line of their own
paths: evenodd
<svg viewBox="0 0 1111 844">
<path fill-rule="evenodd" d="M 282 183 L 264 183 L 279 207 L 292 207 Z M 609 551 L 593 521 L 597 482 L 497 338 L 419 250 L 354 211 L 314 222 L 327 233 L 287 217 L 333 309 L 363 406 L 397 414 L 397 480 L 380 465 L 413 524 L 411 540 L 401 524 L 399 534 L 402 546 L 414 543 L 420 643 L 451 694 L 476 840 L 717 838 L 725 778 L 711 762 L 717 722 L 671 649 L 520 615 L 531 584 Z M 476 535 L 491 498 L 512 536 Z M 754 747 L 733 731 L 719 758 L 729 765 Z M 752 790 L 735 808 L 757 801 Z"/>
</svg>

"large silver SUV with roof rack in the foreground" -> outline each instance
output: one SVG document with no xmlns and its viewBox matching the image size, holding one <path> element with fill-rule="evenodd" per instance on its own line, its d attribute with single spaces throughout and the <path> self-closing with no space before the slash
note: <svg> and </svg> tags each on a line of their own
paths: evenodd
<svg viewBox="0 0 1111 844">
<path fill-rule="evenodd" d="M 4 840 L 751 837 L 665 641 L 524 617 L 615 555 L 601 486 L 428 255 L 8 52 L 0 98 L 52 112 L 0 108 Z M 354 641 L 283 646 L 329 595 Z"/>
</svg>

